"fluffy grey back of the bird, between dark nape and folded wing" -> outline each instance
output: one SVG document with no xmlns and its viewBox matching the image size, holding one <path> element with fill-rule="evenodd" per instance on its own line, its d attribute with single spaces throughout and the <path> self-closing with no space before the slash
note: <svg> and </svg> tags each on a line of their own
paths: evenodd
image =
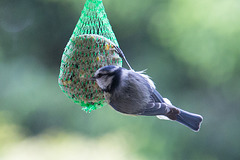
<svg viewBox="0 0 240 160">
<path fill-rule="evenodd" d="M 140 74 L 129 71 L 122 76 L 118 88 L 110 97 L 110 105 L 119 112 L 138 114 L 150 100 L 150 85 Z"/>
</svg>

